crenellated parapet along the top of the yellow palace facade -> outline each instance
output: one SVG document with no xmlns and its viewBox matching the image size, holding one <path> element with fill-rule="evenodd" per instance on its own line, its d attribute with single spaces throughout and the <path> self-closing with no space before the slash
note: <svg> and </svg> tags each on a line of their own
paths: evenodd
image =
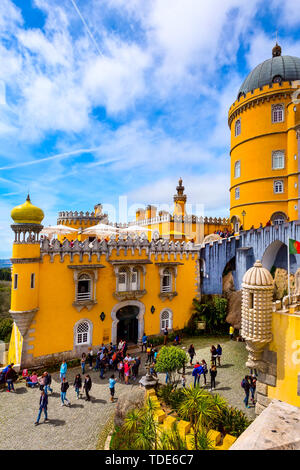
<svg viewBox="0 0 300 470">
<path fill-rule="evenodd" d="M 143 250 L 149 257 L 155 254 L 155 259 L 159 255 L 165 259 L 171 259 L 171 255 L 174 259 L 177 257 L 183 259 L 183 256 L 191 256 L 194 259 L 198 253 L 198 248 L 192 242 L 169 242 L 168 240 L 152 240 L 149 242 L 144 236 L 128 236 L 126 239 L 119 237 L 118 240 L 112 236 L 108 242 L 106 240 L 98 241 L 97 239 L 92 242 L 89 242 L 88 239 L 84 242 L 64 240 L 63 243 L 60 243 L 59 240 L 50 242 L 45 238 L 41 242 L 41 259 L 43 260 L 44 256 L 50 255 L 50 261 L 53 262 L 54 257 L 58 255 L 60 261 L 63 262 L 64 257 L 68 255 L 72 262 L 75 255 L 79 255 L 80 261 L 83 260 L 84 255 L 88 255 L 88 259 L 91 261 L 92 255 L 97 255 L 99 261 L 101 255 L 105 255 L 106 259 L 109 259 L 113 253 L 119 256 L 122 251 L 126 256 L 127 253 L 135 255 L 138 252 L 141 255 Z"/>
</svg>

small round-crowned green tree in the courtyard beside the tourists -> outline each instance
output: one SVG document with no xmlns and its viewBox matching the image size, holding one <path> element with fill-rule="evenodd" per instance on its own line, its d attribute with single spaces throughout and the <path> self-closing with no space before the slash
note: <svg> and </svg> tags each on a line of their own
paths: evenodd
<svg viewBox="0 0 300 470">
<path fill-rule="evenodd" d="M 155 370 L 169 374 L 171 383 L 175 384 L 177 374 L 185 366 L 187 357 L 185 351 L 176 346 L 163 346 L 156 359 Z"/>
</svg>

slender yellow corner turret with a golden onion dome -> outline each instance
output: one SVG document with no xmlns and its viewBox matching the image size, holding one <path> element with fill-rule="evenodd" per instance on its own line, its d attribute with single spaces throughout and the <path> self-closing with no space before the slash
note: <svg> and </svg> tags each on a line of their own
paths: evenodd
<svg viewBox="0 0 300 470">
<path fill-rule="evenodd" d="M 44 212 L 31 203 L 28 195 L 24 204 L 11 211 L 11 217 L 15 233 L 10 310 L 14 330 L 9 357 L 11 362 L 23 366 L 30 364 L 30 326 L 39 307 L 39 233 Z M 15 338 L 19 338 L 18 341 Z"/>
</svg>

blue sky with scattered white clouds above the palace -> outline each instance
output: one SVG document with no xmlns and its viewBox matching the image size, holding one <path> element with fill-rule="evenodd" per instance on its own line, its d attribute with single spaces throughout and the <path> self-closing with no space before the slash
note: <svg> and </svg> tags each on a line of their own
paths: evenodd
<svg viewBox="0 0 300 470">
<path fill-rule="evenodd" d="M 298 0 L 1 0 L 0 257 L 30 191 L 59 210 L 229 208 L 227 112 L 249 71 L 300 55 Z"/>
</svg>

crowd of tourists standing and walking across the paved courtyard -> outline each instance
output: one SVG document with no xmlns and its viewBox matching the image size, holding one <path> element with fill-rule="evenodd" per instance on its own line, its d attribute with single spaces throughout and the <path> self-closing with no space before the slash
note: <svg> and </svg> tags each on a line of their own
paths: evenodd
<svg viewBox="0 0 300 470">
<path fill-rule="evenodd" d="M 167 329 L 166 329 L 167 330 Z M 167 334 L 165 335 L 167 338 Z M 180 337 L 177 337 L 174 340 L 174 344 L 180 344 Z M 77 373 L 74 379 L 74 390 L 76 394 L 76 398 L 82 398 L 83 393 L 85 393 L 86 401 L 91 401 L 90 398 L 90 390 L 92 388 L 92 379 L 89 374 L 86 374 L 85 370 L 87 367 L 91 371 L 99 371 L 100 379 L 105 378 L 105 374 L 107 372 L 110 373 L 108 386 L 109 392 L 111 396 L 111 402 L 114 402 L 114 395 L 115 395 L 115 384 L 117 379 L 115 378 L 115 374 L 118 374 L 118 380 L 120 383 L 125 383 L 129 385 L 130 381 L 134 383 L 138 377 L 139 367 L 141 364 L 141 357 L 135 356 L 132 357 L 129 352 L 127 351 L 128 345 L 127 342 L 121 340 L 117 345 L 113 345 L 110 343 L 109 346 L 102 346 L 97 351 L 96 355 L 94 355 L 92 349 L 89 349 L 88 353 L 82 353 L 80 358 L 80 365 L 81 365 L 81 372 Z M 153 376 L 157 376 L 155 371 L 155 363 L 157 361 L 157 356 L 159 351 L 157 348 L 153 347 L 148 341 L 146 334 L 144 333 L 142 338 L 142 353 L 146 353 L 146 365 L 149 365 L 150 374 Z M 216 388 L 216 376 L 217 376 L 217 367 L 221 366 L 221 357 L 222 357 L 222 347 L 220 344 L 215 347 L 214 345 L 210 348 L 210 368 L 208 368 L 207 362 L 205 359 L 201 361 L 197 361 L 193 365 L 193 360 L 196 356 L 195 347 L 193 344 L 190 345 L 187 351 L 189 358 L 190 358 L 190 366 L 193 367 L 192 369 L 192 377 L 194 378 L 194 387 L 200 386 L 201 384 L 201 376 L 203 376 L 203 385 L 207 385 L 207 375 L 210 375 L 210 391 Z M 13 369 L 14 364 L 8 365 L 4 368 L 1 372 L 2 376 L 4 377 L 4 381 L 7 383 L 7 391 L 13 392 L 14 386 L 13 381 L 15 380 L 17 374 Z M 60 399 L 61 399 L 61 406 L 71 406 L 70 400 L 67 398 L 67 391 L 69 389 L 69 383 L 67 380 L 67 363 L 65 360 L 62 361 L 60 366 Z M 39 412 L 35 422 L 35 425 L 39 424 L 41 414 L 44 412 L 45 415 L 45 422 L 48 421 L 48 395 L 49 393 L 53 393 L 53 389 L 51 388 L 51 374 L 47 371 L 43 372 L 40 377 L 37 376 L 37 373 L 33 371 L 30 373 L 27 369 L 23 369 L 22 377 L 26 381 L 26 385 L 30 388 L 38 387 L 41 391 L 41 395 L 39 398 Z M 170 380 L 169 374 L 166 374 L 166 383 Z M 182 386 L 186 386 L 186 376 L 185 376 L 185 369 L 183 369 L 182 378 L 181 378 Z M 255 389 L 256 389 L 256 376 L 255 374 L 246 375 L 241 383 L 242 388 L 245 392 L 244 403 L 246 408 L 250 408 L 249 406 L 249 397 L 251 394 L 251 401 L 255 403 Z"/>
</svg>

